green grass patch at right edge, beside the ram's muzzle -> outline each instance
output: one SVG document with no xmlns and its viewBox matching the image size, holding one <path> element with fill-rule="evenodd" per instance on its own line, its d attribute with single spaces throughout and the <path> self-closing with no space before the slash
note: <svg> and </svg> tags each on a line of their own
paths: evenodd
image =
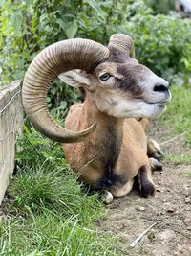
<svg viewBox="0 0 191 256">
<path fill-rule="evenodd" d="M 173 128 L 174 135 L 185 133 L 185 143 L 191 146 L 191 86 L 172 87 L 172 101 L 162 116 L 162 124 Z"/>
</svg>

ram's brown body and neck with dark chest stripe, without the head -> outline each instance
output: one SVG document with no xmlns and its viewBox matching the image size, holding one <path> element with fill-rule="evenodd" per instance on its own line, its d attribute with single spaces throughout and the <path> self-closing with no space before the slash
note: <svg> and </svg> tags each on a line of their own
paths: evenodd
<svg viewBox="0 0 191 256">
<path fill-rule="evenodd" d="M 147 119 L 117 119 L 100 112 L 96 104 L 86 97 L 84 104 L 71 107 L 66 128 L 81 130 L 97 122 L 95 132 L 84 142 L 63 144 L 66 158 L 81 180 L 98 189 L 107 189 L 116 197 L 124 196 L 133 186 L 141 167 L 145 169 L 150 186 L 154 183 L 147 157 Z M 111 179 L 111 180 L 110 180 Z M 108 182 L 104 182 L 107 180 Z M 141 179 L 139 179 L 141 182 Z M 102 181 L 103 184 L 100 184 Z M 145 183 L 145 178 L 144 178 Z M 141 184 L 140 184 L 141 188 Z"/>
</svg>

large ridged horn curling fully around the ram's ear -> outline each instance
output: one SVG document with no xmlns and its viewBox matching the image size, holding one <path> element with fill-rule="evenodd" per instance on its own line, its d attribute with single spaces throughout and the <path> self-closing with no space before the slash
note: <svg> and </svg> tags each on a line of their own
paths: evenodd
<svg viewBox="0 0 191 256">
<path fill-rule="evenodd" d="M 40 52 L 27 70 L 22 89 L 23 105 L 33 127 L 57 142 L 78 142 L 87 137 L 96 123 L 78 132 L 62 128 L 47 108 L 47 92 L 60 73 L 77 68 L 91 71 L 108 55 L 107 47 L 79 38 L 54 43 Z"/>
</svg>

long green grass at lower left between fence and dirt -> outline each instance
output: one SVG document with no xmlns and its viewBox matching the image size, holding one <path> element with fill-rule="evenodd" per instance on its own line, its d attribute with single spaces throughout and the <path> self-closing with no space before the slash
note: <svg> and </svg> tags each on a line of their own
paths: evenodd
<svg viewBox="0 0 191 256">
<path fill-rule="evenodd" d="M 117 238 L 94 230 L 104 215 L 88 195 L 58 144 L 25 127 L 0 221 L 0 255 L 121 255 Z"/>
</svg>

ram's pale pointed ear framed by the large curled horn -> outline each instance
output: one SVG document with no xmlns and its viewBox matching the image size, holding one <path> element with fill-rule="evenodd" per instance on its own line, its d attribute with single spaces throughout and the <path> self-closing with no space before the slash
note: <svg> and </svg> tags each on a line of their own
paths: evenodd
<svg viewBox="0 0 191 256">
<path fill-rule="evenodd" d="M 90 80 L 87 77 L 87 74 L 85 72 L 81 72 L 78 69 L 70 70 L 65 73 L 61 73 L 58 75 L 58 78 L 61 81 L 64 81 L 65 83 L 69 84 L 73 87 L 81 87 L 83 85 L 90 85 Z"/>
</svg>

